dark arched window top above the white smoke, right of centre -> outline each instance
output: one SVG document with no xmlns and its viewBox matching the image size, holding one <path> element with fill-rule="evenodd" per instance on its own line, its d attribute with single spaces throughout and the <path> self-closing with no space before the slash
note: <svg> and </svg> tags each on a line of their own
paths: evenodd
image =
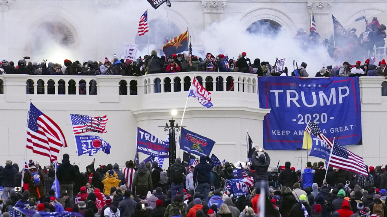
<svg viewBox="0 0 387 217">
<path fill-rule="evenodd" d="M 247 27 L 246 32 L 255 35 L 269 35 L 276 36 L 281 30 L 281 24 L 277 23 L 274 20 L 262 19 L 253 22 L 249 27 Z"/>
</svg>

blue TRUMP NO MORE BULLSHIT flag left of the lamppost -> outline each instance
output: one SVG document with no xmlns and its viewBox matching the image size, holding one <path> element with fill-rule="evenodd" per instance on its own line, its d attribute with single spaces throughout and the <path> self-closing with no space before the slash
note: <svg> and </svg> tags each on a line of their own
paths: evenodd
<svg viewBox="0 0 387 217">
<path fill-rule="evenodd" d="M 159 158 L 169 158 L 169 145 L 140 127 L 137 127 L 137 152 Z"/>
</svg>

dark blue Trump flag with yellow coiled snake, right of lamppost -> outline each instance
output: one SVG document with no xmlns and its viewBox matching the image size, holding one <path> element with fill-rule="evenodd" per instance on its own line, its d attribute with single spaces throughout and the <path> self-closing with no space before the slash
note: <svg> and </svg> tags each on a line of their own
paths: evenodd
<svg viewBox="0 0 387 217">
<path fill-rule="evenodd" d="M 184 151 L 198 156 L 209 155 L 214 144 L 213 140 L 182 128 L 180 148 Z"/>
</svg>

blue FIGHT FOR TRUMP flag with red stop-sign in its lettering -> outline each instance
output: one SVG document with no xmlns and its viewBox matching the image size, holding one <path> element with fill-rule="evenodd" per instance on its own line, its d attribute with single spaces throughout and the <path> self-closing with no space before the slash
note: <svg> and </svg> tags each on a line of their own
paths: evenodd
<svg viewBox="0 0 387 217">
<path fill-rule="evenodd" d="M 110 154 L 110 144 L 99 136 L 74 136 L 77 145 L 78 156 L 89 154 L 93 156 L 98 151 Z"/>
</svg>

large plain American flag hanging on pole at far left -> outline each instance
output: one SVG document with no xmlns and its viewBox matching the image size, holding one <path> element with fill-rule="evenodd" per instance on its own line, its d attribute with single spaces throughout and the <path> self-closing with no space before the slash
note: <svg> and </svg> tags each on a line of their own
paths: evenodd
<svg viewBox="0 0 387 217">
<path fill-rule="evenodd" d="M 31 103 L 27 120 L 26 147 L 33 153 L 49 157 L 53 162 L 57 160 L 62 146 L 67 147 L 62 130 Z"/>
</svg>

